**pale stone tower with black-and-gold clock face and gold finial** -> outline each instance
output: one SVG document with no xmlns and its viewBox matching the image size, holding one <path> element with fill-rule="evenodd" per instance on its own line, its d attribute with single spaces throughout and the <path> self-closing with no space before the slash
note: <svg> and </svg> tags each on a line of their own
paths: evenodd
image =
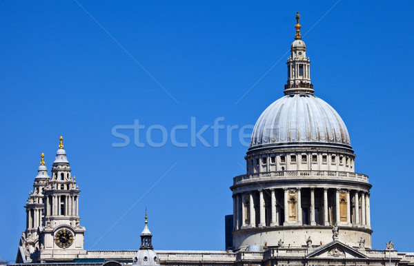
<svg viewBox="0 0 414 266">
<path fill-rule="evenodd" d="M 71 176 L 70 165 L 63 150 L 62 136 L 59 150 L 52 165 L 52 176 L 44 190 L 43 226 L 40 260 L 57 262 L 73 260 L 83 249 L 85 227 L 79 225 L 79 192 L 75 176 Z"/>
</svg>

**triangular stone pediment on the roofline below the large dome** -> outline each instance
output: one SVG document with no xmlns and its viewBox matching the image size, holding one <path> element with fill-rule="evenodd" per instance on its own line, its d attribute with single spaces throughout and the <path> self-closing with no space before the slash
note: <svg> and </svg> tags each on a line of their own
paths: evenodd
<svg viewBox="0 0 414 266">
<path fill-rule="evenodd" d="M 356 249 L 339 241 L 333 241 L 309 253 L 306 258 L 368 258 Z"/>
</svg>

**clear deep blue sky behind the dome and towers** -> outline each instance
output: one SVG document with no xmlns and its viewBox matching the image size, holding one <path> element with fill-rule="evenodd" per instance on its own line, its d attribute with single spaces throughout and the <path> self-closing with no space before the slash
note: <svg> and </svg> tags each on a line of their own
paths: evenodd
<svg viewBox="0 0 414 266">
<path fill-rule="evenodd" d="M 356 172 L 373 184 L 373 247 L 414 251 L 413 1 L 79 3 L 179 104 L 76 1 L 0 1 L 0 259 L 16 256 L 39 155 L 50 170 L 60 135 L 86 249 L 139 248 L 145 207 L 156 249 L 224 249 L 247 148 L 227 147 L 224 131 L 218 147 L 112 147 L 112 127 L 254 124 L 283 96 L 297 11 L 302 33 L 314 26 L 304 41 L 315 95 L 344 119 Z M 213 144 L 212 130 L 203 136 Z M 188 130 L 177 139 L 190 143 Z"/>
</svg>

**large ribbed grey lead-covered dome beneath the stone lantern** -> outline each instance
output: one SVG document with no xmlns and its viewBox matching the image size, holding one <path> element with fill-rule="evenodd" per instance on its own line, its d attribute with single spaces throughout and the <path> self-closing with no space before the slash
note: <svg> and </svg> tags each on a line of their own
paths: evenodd
<svg viewBox="0 0 414 266">
<path fill-rule="evenodd" d="M 253 129 L 249 150 L 296 143 L 351 149 L 341 116 L 313 94 L 288 94 L 266 108 Z"/>
</svg>

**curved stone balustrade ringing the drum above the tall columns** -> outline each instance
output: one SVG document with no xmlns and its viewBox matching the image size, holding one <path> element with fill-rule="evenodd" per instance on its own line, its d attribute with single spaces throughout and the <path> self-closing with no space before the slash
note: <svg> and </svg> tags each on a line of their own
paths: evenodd
<svg viewBox="0 0 414 266">
<path fill-rule="evenodd" d="M 353 172 L 341 171 L 319 171 L 319 170 L 297 170 L 297 171 L 274 171 L 262 172 L 256 174 L 242 174 L 233 178 L 233 185 L 240 185 L 244 183 L 268 181 L 277 179 L 303 179 L 303 178 L 317 178 L 317 179 L 337 179 L 337 180 L 351 180 L 368 183 L 368 176 L 365 174 L 358 174 Z"/>
</svg>

